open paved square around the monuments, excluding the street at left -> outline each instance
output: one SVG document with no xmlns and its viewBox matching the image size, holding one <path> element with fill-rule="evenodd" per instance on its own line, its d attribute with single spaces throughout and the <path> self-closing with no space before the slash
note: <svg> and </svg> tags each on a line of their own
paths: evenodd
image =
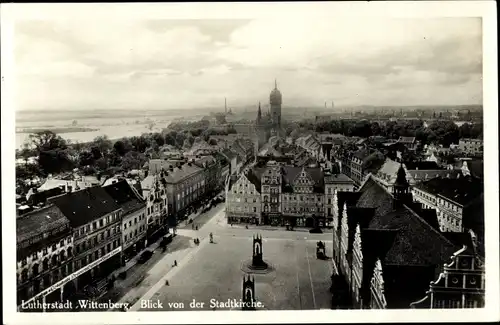
<svg viewBox="0 0 500 325">
<path fill-rule="evenodd" d="M 139 310 L 231 310 L 213 308 L 210 302 L 215 299 L 227 303 L 242 298 L 243 270 L 252 259 L 253 233 L 247 230 L 216 235 L 214 244 L 201 245 L 189 261 L 171 272 L 171 277 L 167 274 L 164 279 L 168 279 L 168 286 L 162 285 L 148 297 L 150 301 L 160 301 L 162 306 Z M 263 258 L 272 270 L 267 274 L 252 274 L 256 300 L 263 305 L 261 309 L 330 309 L 332 262 L 316 258 L 316 242 L 324 241 L 326 253 L 331 256 L 331 236 L 303 233 L 287 238 L 280 234 L 285 233 L 263 233 Z M 198 302 L 196 307 L 191 304 L 193 299 Z"/>
</svg>

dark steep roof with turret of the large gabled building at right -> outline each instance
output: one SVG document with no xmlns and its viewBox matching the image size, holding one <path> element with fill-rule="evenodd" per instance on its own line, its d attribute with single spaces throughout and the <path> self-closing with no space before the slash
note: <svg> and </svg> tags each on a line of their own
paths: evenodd
<svg viewBox="0 0 500 325">
<path fill-rule="evenodd" d="M 360 294 L 364 301 L 372 299 L 369 283 L 376 261 L 380 261 L 385 308 L 409 308 L 439 274 L 442 263 L 461 247 L 428 222 L 434 222 L 429 211 L 423 212 L 425 209 L 413 205 L 402 167 L 397 174 L 393 193 L 369 176 L 357 193 L 359 197 L 348 195 L 352 198 L 346 204 L 348 240 L 354 240 L 356 225 L 362 238 L 364 285 Z M 339 208 L 345 202 L 340 194 Z M 342 213 L 339 216 L 342 218 Z"/>
</svg>

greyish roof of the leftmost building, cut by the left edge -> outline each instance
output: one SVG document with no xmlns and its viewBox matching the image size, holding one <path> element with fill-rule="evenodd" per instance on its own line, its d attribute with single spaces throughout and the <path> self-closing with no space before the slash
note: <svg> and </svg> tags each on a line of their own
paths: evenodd
<svg viewBox="0 0 500 325">
<path fill-rule="evenodd" d="M 69 220 L 57 206 L 49 205 L 16 219 L 18 243 L 68 224 Z"/>
</svg>

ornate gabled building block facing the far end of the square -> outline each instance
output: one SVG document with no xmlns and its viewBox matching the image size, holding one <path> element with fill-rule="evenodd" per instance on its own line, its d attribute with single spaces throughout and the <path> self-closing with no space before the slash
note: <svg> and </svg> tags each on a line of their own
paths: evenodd
<svg viewBox="0 0 500 325">
<path fill-rule="evenodd" d="M 235 213 L 245 213 L 244 206 L 248 205 L 248 213 L 258 214 L 255 220 L 259 224 L 327 226 L 323 178 L 319 167 L 283 166 L 272 161 L 265 167 L 254 167 L 238 180 L 229 182 L 227 217 L 232 222 L 253 220 L 235 219 Z"/>
</svg>

